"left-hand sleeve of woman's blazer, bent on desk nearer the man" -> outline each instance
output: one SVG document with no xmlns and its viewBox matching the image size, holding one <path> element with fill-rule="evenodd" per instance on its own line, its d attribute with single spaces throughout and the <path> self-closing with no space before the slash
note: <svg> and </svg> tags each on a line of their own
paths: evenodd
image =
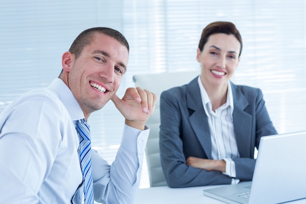
<svg viewBox="0 0 306 204">
<path fill-rule="evenodd" d="M 186 165 L 182 137 L 188 138 L 185 133 L 194 133 L 189 122 L 185 121 L 189 117 L 185 98 L 186 95 L 181 88 L 164 91 L 160 96 L 160 159 L 169 187 L 231 183 L 232 179 L 221 172 L 208 172 Z M 181 133 L 182 129 L 185 129 L 184 136 Z"/>
</svg>

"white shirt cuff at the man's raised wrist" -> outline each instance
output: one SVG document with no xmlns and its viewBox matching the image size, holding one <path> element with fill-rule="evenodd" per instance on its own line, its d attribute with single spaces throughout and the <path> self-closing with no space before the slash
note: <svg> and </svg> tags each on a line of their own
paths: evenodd
<svg viewBox="0 0 306 204">
<path fill-rule="evenodd" d="M 124 125 L 121 147 L 129 152 L 142 154 L 145 151 L 150 129 L 145 126 L 141 131 L 131 126 Z"/>
</svg>

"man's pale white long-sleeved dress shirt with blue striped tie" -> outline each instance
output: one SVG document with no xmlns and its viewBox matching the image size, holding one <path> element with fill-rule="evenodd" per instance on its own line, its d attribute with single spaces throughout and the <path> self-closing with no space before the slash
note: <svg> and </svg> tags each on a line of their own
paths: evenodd
<svg viewBox="0 0 306 204">
<path fill-rule="evenodd" d="M 0 114 L 0 204 L 81 204 L 84 196 L 73 121 L 84 118 L 66 84 L 56 78 L 30 91 Z M 89 124 L 90 125 L 90 124 Z M 109 165 L 92 151 L 94 199 L 131 204 L 140 183 L 149 129 L 124 126 Z"/>
</svg>

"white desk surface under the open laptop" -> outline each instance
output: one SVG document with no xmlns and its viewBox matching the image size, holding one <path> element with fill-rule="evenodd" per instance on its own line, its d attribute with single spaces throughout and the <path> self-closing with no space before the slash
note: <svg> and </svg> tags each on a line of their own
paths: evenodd
<svg viewBox="0 0 306 204">
<path fill-rule="evenodd" d="M 200 186 L 190 188 L 169 188 L 168 186 L 162 186 L 141 188 L 138 190 L 134 204 L 224 204 L 221 201 L 206 197 L 202 193 L 202 190 L 205 188 L 218 186 Z M 306 204 L 306 199 L 289 203 Z"/>
</svg>

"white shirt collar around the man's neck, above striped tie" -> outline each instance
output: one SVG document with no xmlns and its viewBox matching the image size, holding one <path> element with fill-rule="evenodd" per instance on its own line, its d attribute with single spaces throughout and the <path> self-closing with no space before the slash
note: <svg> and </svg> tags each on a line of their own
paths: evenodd
<svg viewBox="0 0 306 204">
<path fill-rule="evenodd" d="M 60 100 L 66 107 L 72 120 L 79 120 L 85 118 L 79 103 L 75 99 L 71 90 L 63 82 L 63 80 L 59 78 L 54 79 L 53 82 L 48 86 L 48 89 L 58 94 Z"/>
</svg>

